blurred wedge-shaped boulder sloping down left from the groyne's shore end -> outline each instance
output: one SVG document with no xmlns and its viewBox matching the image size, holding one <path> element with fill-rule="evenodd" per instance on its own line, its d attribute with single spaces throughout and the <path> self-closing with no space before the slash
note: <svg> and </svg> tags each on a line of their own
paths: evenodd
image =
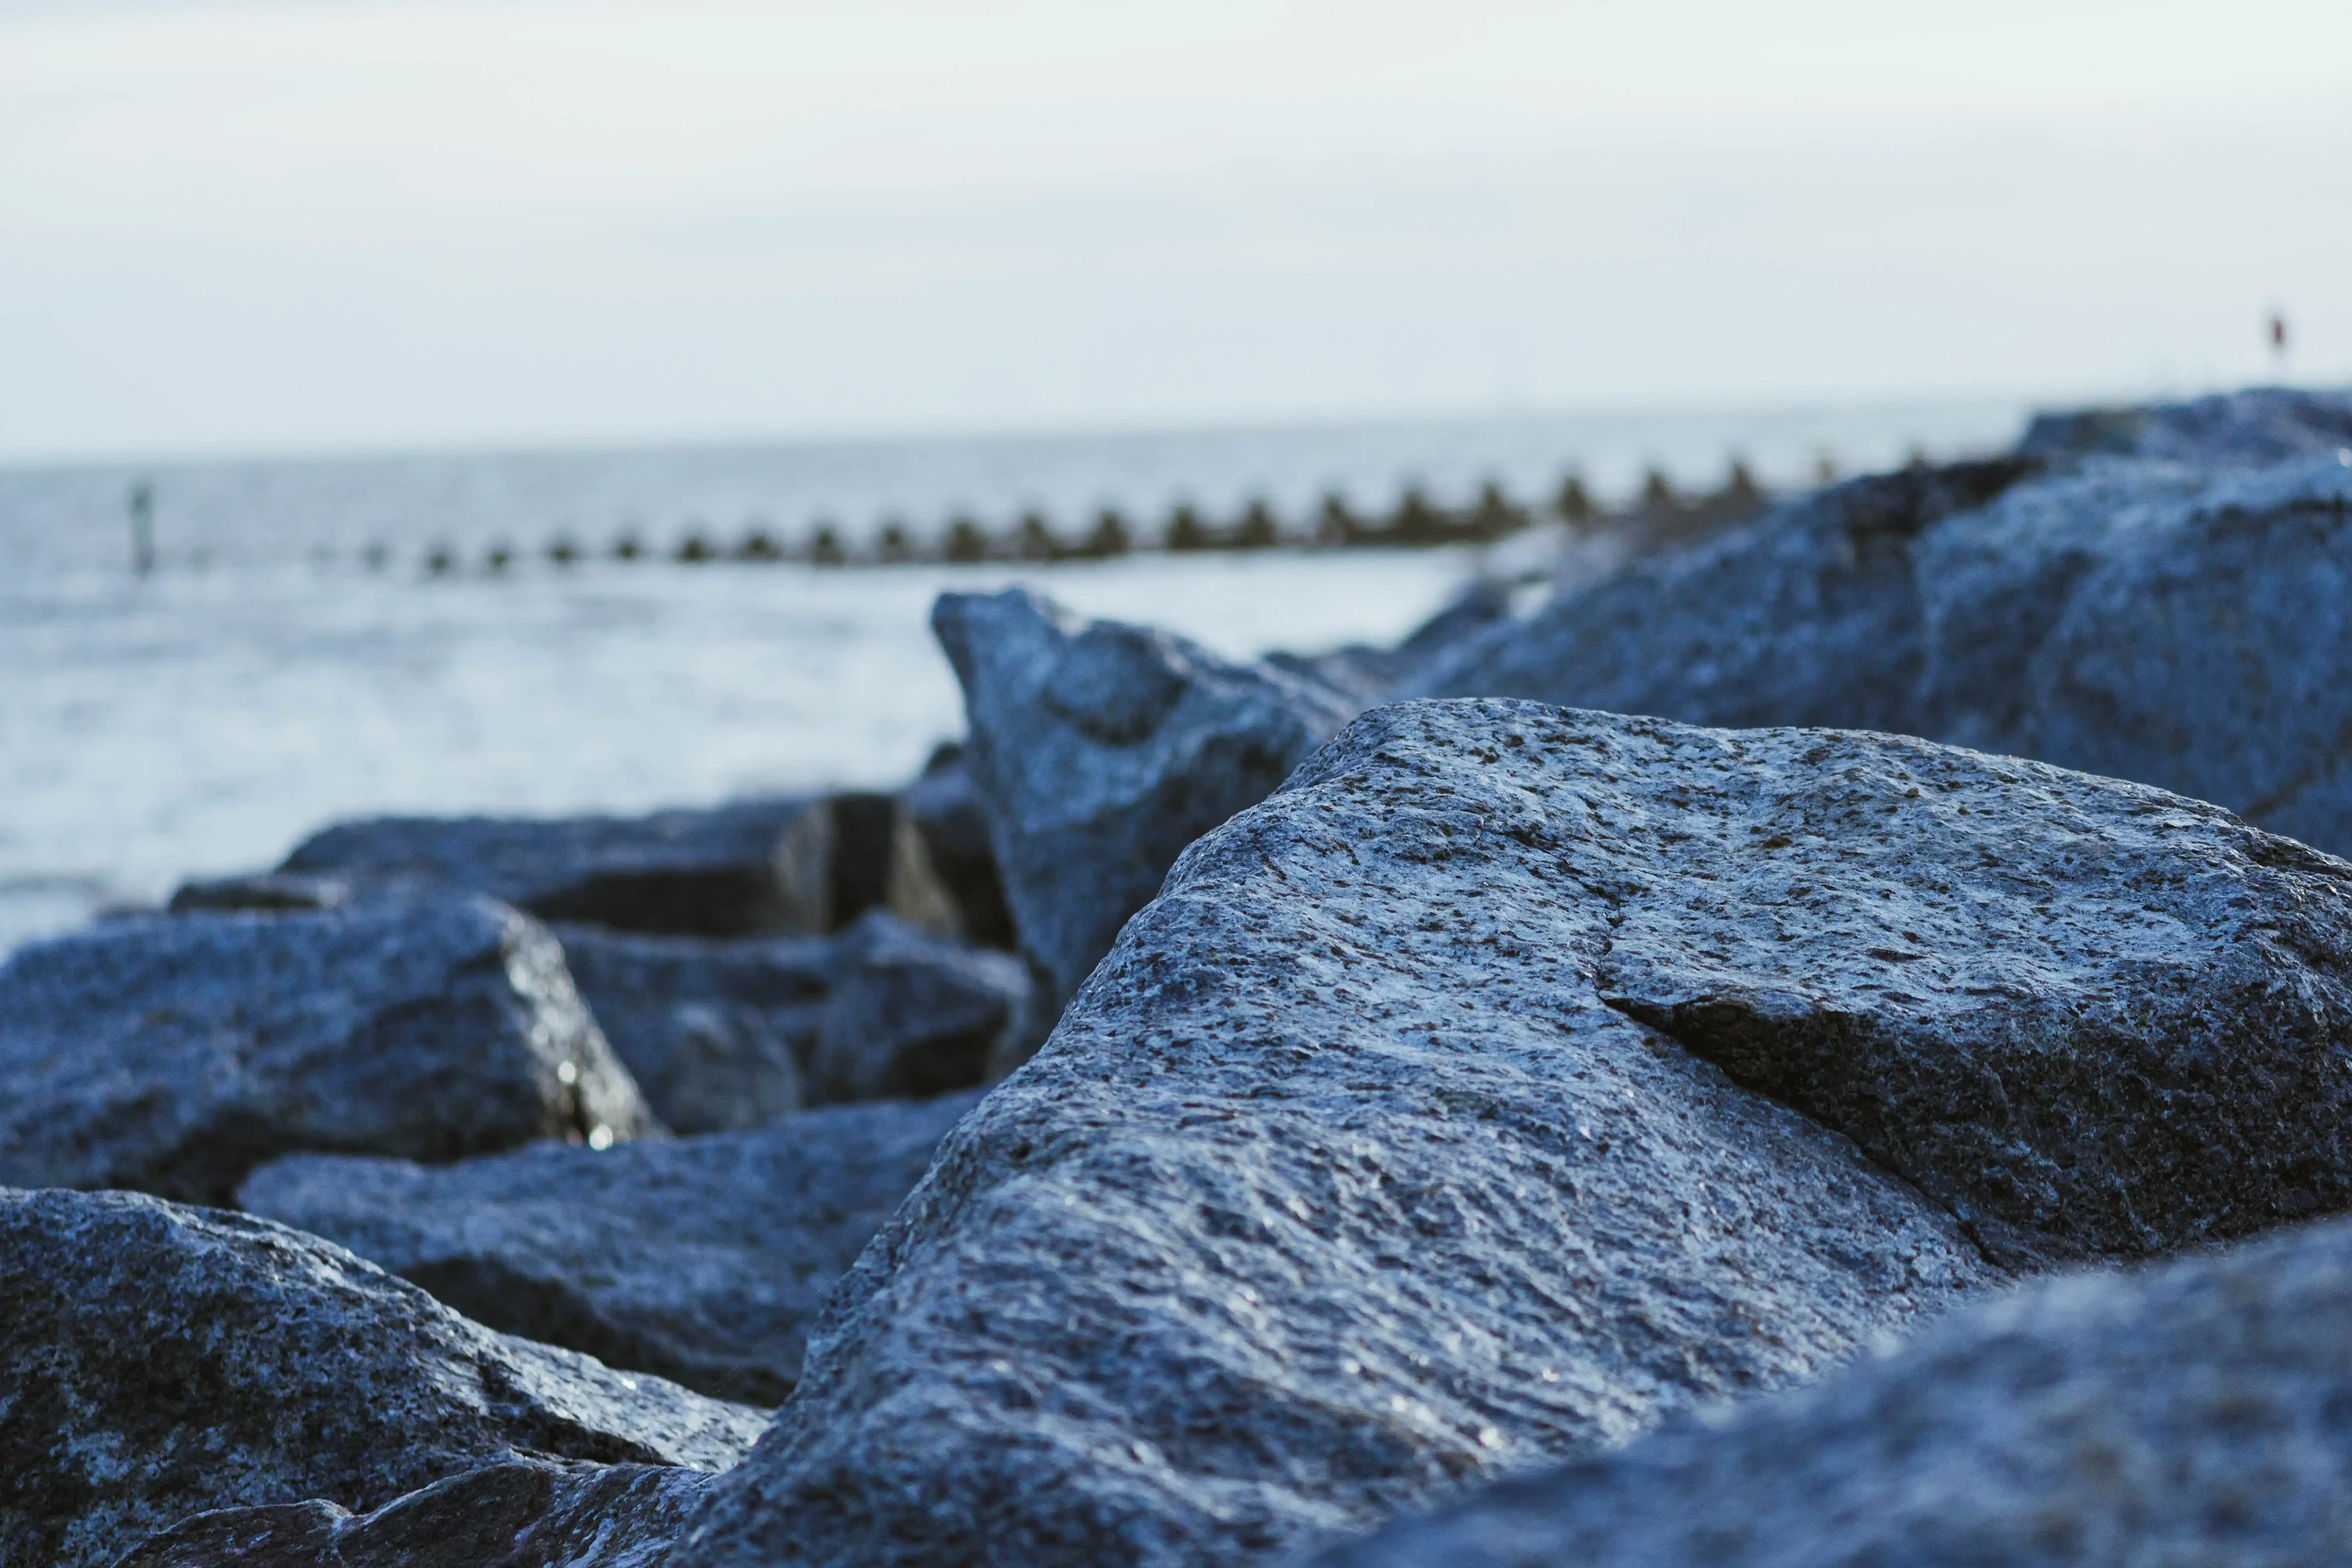
<svg viewBox="0 0 2352 1568">
<path fill-rule="evenodd" d="M 1524 696 L 1684 724 L 1917 731 L 1912 557 L 2025 461 L 1905 468 L 1788 501 L 1705 545 L 1639 557 L 1430 661 L 1402 696 Z"/>
</svg>

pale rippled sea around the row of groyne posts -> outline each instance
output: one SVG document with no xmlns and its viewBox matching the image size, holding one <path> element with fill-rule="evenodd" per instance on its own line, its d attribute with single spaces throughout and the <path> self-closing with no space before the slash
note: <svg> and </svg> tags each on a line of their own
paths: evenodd
<svg viewBox="0 0 2352 1568">
<path fill-rule="evenodd" d="M 1028 581 L 1249 658 L 1402 637 L 1475 550 L 1134 555 L 1051 567 L 675 564 L 543 557 L 557 534 L 844 538 L 1025 508 L 1138 520 L 1341 489 L 1604 496 L 1649 465 L 1691 489 L 1731 454 L 1795 484 L 2013 440 L 2023 404 L 1559 416 L 1063 440 L 247 461 L 0 470 L 0 952 L 188 875 L 261 867 L 374 811 L 642 811 L 887 785 L 960 731 L 929 639 L 943 588 Z M 127 494 L 158 569 L 129 571 Z M 496 543 L 515 562 L 489 574 Z M 376 545 L 383 564 L 369 567 Z M 428 576 L 428 550 L 459 569 Z M 1508 545 L 1505 545 L 1508 548 Z"/>
</svg>

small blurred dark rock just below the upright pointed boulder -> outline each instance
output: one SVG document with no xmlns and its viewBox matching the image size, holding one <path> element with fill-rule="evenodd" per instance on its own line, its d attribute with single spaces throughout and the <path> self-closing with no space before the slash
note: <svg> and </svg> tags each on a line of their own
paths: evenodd
<svg viewBox="0 0 2352 1568">
<path fill-rule="evenodd" d="M 880 910 L 830 938 L 560 936 L 614 1051 L 682 1133 L 969 1088 L 1030 992 L 1018 959 Z"/>
</svg>

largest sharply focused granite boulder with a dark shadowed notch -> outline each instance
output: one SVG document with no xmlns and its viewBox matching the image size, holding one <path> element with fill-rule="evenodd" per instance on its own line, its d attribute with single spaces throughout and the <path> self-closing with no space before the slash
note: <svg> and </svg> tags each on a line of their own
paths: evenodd
<svg viewBox="0 0 2352 1568">
<path fill-rule="evenodd" d="M 2347 978 L 2352 867 L 2154 790 L 1374 710 L 948 1135 L 691 1561 L 1254 1561 L 2343 1206 Z"/>
</svg>

